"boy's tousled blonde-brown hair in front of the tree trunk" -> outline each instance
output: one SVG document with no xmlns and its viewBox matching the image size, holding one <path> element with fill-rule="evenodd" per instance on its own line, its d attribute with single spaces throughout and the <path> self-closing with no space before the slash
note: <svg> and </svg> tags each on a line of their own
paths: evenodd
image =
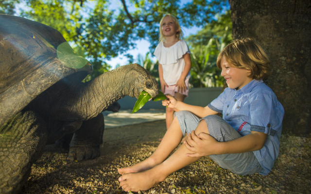
<svg viewBox="0 0 311 194">
<path fill-rule="evenodd" d="M 223 56 L 230 65 L 251 70 L 249 78 L 267 80 L 271 74 L 268 54 L 253 38 L 235 39 L 228 44 L 217 57 L 217 67 L 220 69 Z"/>
</svg>

